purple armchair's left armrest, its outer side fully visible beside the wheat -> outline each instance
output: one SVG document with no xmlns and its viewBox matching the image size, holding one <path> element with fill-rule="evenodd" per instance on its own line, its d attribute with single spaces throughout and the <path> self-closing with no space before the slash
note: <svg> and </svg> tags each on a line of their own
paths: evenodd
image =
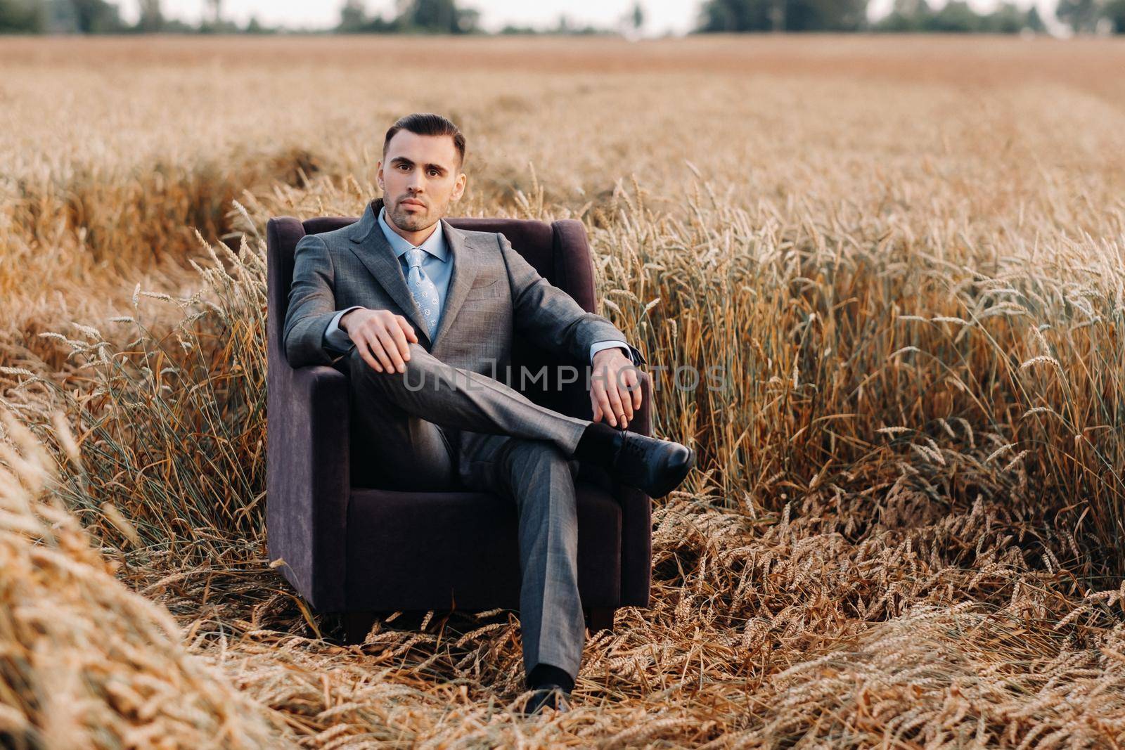
<svg viewBox="0 0 1125 750">
<path fill-rule="evenodd" d="M 267 545 L 270 561 L 314 609 L 344 604 L 349 475 L 348 379 L 291 368 L 277 347 L 267 372 Z"/>
</svg>

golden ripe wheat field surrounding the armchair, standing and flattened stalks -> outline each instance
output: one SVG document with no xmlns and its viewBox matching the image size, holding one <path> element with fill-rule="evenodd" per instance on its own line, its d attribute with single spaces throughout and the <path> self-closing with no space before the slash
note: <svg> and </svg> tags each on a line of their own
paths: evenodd
<svg viewBox="0 0 1125 750">
<path fill-rule="evenodd" d="M 1125 44 L 0 39 L 0 742 L 1125 744 Z M 270 216 L 382 133 L 582 219 L 699 466 L 652 606 L 512 712 L 516 613 L 362 645 L 266 555 Z M 224 244 L 226 243 L 226 244 Z"/>
</svg>

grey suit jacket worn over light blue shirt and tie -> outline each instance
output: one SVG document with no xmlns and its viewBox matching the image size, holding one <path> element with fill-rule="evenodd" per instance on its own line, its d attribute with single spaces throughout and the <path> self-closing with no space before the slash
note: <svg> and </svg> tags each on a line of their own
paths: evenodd
<svg viewBox="0 0 1125 750">
<path fill-rule="evenodd" d="M 403 315 L 431 354 L 489 377 L 511 363 L 515 331 L 579 368 L 588 363 L 594 342 L 626 338 L 606 318 L 585 311 L 542 278 L 503 234 L 458 229 L 441 219 L 453 275 L 430 341 L 402 265 L 379 231 L 381 205 L 377 198 L 359 222 L 297 243 L 284 334 L 291 367 L 331 364 L 338 354 L 324 346 L 324 332 L 336 310 L 354 305 Z M 634 346 L 629 350 L 633 364 L 645 362 Z"/>
</svg>

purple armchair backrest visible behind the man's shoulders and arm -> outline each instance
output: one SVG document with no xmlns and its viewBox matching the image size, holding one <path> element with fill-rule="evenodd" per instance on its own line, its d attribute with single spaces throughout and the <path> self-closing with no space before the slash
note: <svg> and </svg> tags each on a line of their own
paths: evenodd
<svg viewBox="0 0 1125 750">
<path fill-rule="evenodd" d="M 267 224 L 267 273 L 268 290 L 268 346 L 277 347 L 285 360 L 284 324 L 289 305 L 289 287 L 292 282 L 294 252 L 297 242 L 306 234 L 331 232 L 359 220 L 354 216 L 321 216 L 300 222 L 290 216 L 274 217 Z M 582 222 L 561 219 L 547 224 L 534 219 L 505 218 L 449 218 L 449 223 L 460 229 L 475 232 L 501 232 L 531 265 L 554 286 L 570 295 L 586 311 L 596 311 L 594 296 L 594 264 L 586 241 L 586 229 Z M 566 363 L 579 368 L 576 387 L 558 387 L 559 371 L 555 365 Z M 560 362 L 534 343 L 515 336 L 512 345 L 512 382 L 528 398 L 549 408 L 572 416 L 592 418 L 590 399 L 585 390 L 585 377 L 579 362 Z M 538 373 L 547 365 L 546 380 L 528 383 L 520 388 L 520 368 Z M 497 378 L 506 373 L 497 373 Z"/>
</svg>

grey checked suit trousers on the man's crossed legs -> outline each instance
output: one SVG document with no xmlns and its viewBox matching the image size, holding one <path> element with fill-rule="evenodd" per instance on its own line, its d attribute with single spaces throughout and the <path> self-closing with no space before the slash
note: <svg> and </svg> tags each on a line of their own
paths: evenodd
<svg viewBox="0 0 1125 750">
<path fill-rule="evenodd" d="M 518 509 L 520 630 L 526 674 L 540 662 L 576 678 L 585 640 L 578 596 L 573 459 L 587 419 L 540 406 L 507 385 L 408 344 L 405 372 L 378 372 L 356 349 L 341 358 L 351 390 L 360 481 L 442 491 L 459 486 Z M 456 439 L 450 434 L 457 431 Z"/>
</svg>

